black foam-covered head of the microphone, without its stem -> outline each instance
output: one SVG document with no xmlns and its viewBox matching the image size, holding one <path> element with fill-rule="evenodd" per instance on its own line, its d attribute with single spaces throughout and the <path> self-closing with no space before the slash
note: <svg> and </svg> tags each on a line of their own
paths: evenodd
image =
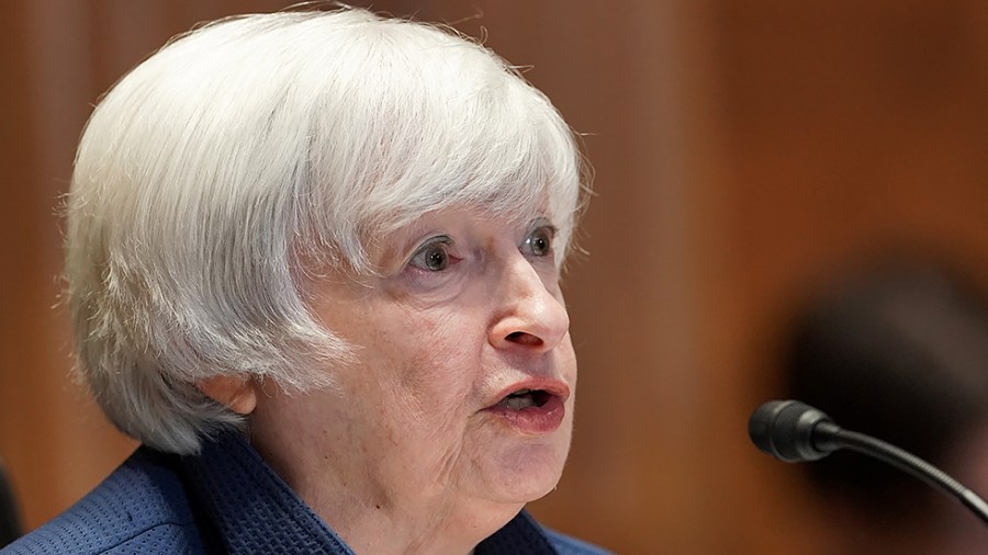
<svg viewBox="0 0 988 555">
<path fill-rule="evenodd" d="M 752 443 L 787 463 L 817 461 L 835 451 L 838 445 L 830 438 L 838 429 L 826 414 L 798 400 L 770 400 L 748 421 Z"/>
</svg>

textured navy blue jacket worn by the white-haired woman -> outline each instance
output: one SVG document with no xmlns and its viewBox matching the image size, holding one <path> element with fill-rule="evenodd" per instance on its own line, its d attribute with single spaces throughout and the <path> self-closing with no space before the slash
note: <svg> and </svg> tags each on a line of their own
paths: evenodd
<svg viewBox="0 0 988 555">
<path fill-rule="evenodd" d="M 0 550 L 14 554 L 352 555 L 238 434 L 181 457 L 142 446 L 63 514 Z M 476 555 L 602 555 L 521 511 Z"/>
</svg>

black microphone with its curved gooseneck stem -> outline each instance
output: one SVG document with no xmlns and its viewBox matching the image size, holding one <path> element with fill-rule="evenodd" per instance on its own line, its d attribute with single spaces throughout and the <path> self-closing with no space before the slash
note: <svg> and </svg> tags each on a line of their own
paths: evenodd
<svg viewBox="0 0 988 555">
<path fill-rule="evenodd" d="M 748 434 L 761 451 L 787 463 L 817 461 L 839 449 L 873 456 L 957 499 L 988 524 L 988 503 L 940 468 L 890 443 L 845 430 L 798 400 L 770 400 L 755 409 Z"/>
</svg>

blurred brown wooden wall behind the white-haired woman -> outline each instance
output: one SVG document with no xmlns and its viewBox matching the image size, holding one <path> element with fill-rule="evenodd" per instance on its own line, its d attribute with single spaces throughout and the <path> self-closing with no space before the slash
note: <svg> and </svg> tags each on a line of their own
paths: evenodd
<svg viewBox="0 0 988 555">
<path fill-rule="evenodd" d="M 583 134 L 580 409 L 537 517 L 618 553 L 819 552 L 834 530 L 748 417 L 782 390 L 790 313 L 839 269 L 895 246 L 988 282 L 988 3 L 349 3 L 481 37 Z M 0 3 L 0 458 L 27 530 L 134 448 L 72 382 L 59 304 L 59 197 L 91 106 L 197 22 L 284 5 Z"/>
</svg>

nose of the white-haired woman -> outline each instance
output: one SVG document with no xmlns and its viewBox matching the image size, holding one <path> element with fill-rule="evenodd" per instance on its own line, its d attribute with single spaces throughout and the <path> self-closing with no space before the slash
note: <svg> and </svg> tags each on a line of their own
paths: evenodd
<svg viewBox="0 0 988 555">
<path fill-rule="evenodd" d="M 554 278 L 553 278 L 554 280 Z M 514 257 L 505 267 L 498 287 L 498 312 L 491 329 L 496 348 L 553 349 L 570 330 L 570 316 L 531 263 Z M 550 286 L 555 288 L 557 284 Z"/>
</svg>

